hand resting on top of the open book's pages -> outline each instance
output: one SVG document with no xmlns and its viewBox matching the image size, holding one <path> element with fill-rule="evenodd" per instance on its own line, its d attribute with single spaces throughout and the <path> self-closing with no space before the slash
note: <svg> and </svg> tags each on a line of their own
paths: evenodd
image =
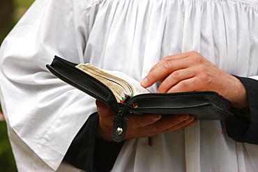
<svg viewBox="0 0 258 172">
<path fill-rule="evenodd" d="M 198 52 L 162 58 L 142 80 L 142 86 L 149 87 L 156 81 L 160 81 L 158 93 L 216 91 L 232 101 L 234 107 L 248 105 L 241 81 L 220 70 Z"/>
</svg>

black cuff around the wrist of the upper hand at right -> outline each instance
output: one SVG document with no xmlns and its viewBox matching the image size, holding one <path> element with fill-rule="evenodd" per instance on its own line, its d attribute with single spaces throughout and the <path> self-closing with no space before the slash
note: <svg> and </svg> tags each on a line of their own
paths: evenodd
<svg viewBox="0 0 258 172">
<path fill-rule="evenodd" d="M 250 120 L 241 116 L 227 119 L 227 134 L 238 142 L 258 144 L 258 81 L 237 77 L 245 86 L 250 107 Z"/>
</svg>

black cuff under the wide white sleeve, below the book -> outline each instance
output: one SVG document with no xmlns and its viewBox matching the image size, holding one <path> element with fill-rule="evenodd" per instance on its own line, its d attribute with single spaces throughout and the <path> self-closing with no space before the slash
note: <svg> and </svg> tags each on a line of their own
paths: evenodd
<svg viewBox="0 0 258 172">
<path fill-rule="evenodd" d="M 92 114 L 79 130 L 63 161 L 85 171 L 110 171 L 123 143 L 96 139 L 98 113 Z"/>
</svg>

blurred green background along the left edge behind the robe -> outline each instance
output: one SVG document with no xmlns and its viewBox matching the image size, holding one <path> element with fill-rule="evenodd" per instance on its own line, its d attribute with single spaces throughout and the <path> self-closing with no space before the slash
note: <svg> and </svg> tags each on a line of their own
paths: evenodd
<svg viewBox="0 0 258 172">
<path fill-rule="evenodd" d="M 34 0 L 0 0 L 0 44 Z M 0 83 L 1 84 L 1 83 Z M 17 171 L 0 102 L 0 172 Z"/>
</svg>

